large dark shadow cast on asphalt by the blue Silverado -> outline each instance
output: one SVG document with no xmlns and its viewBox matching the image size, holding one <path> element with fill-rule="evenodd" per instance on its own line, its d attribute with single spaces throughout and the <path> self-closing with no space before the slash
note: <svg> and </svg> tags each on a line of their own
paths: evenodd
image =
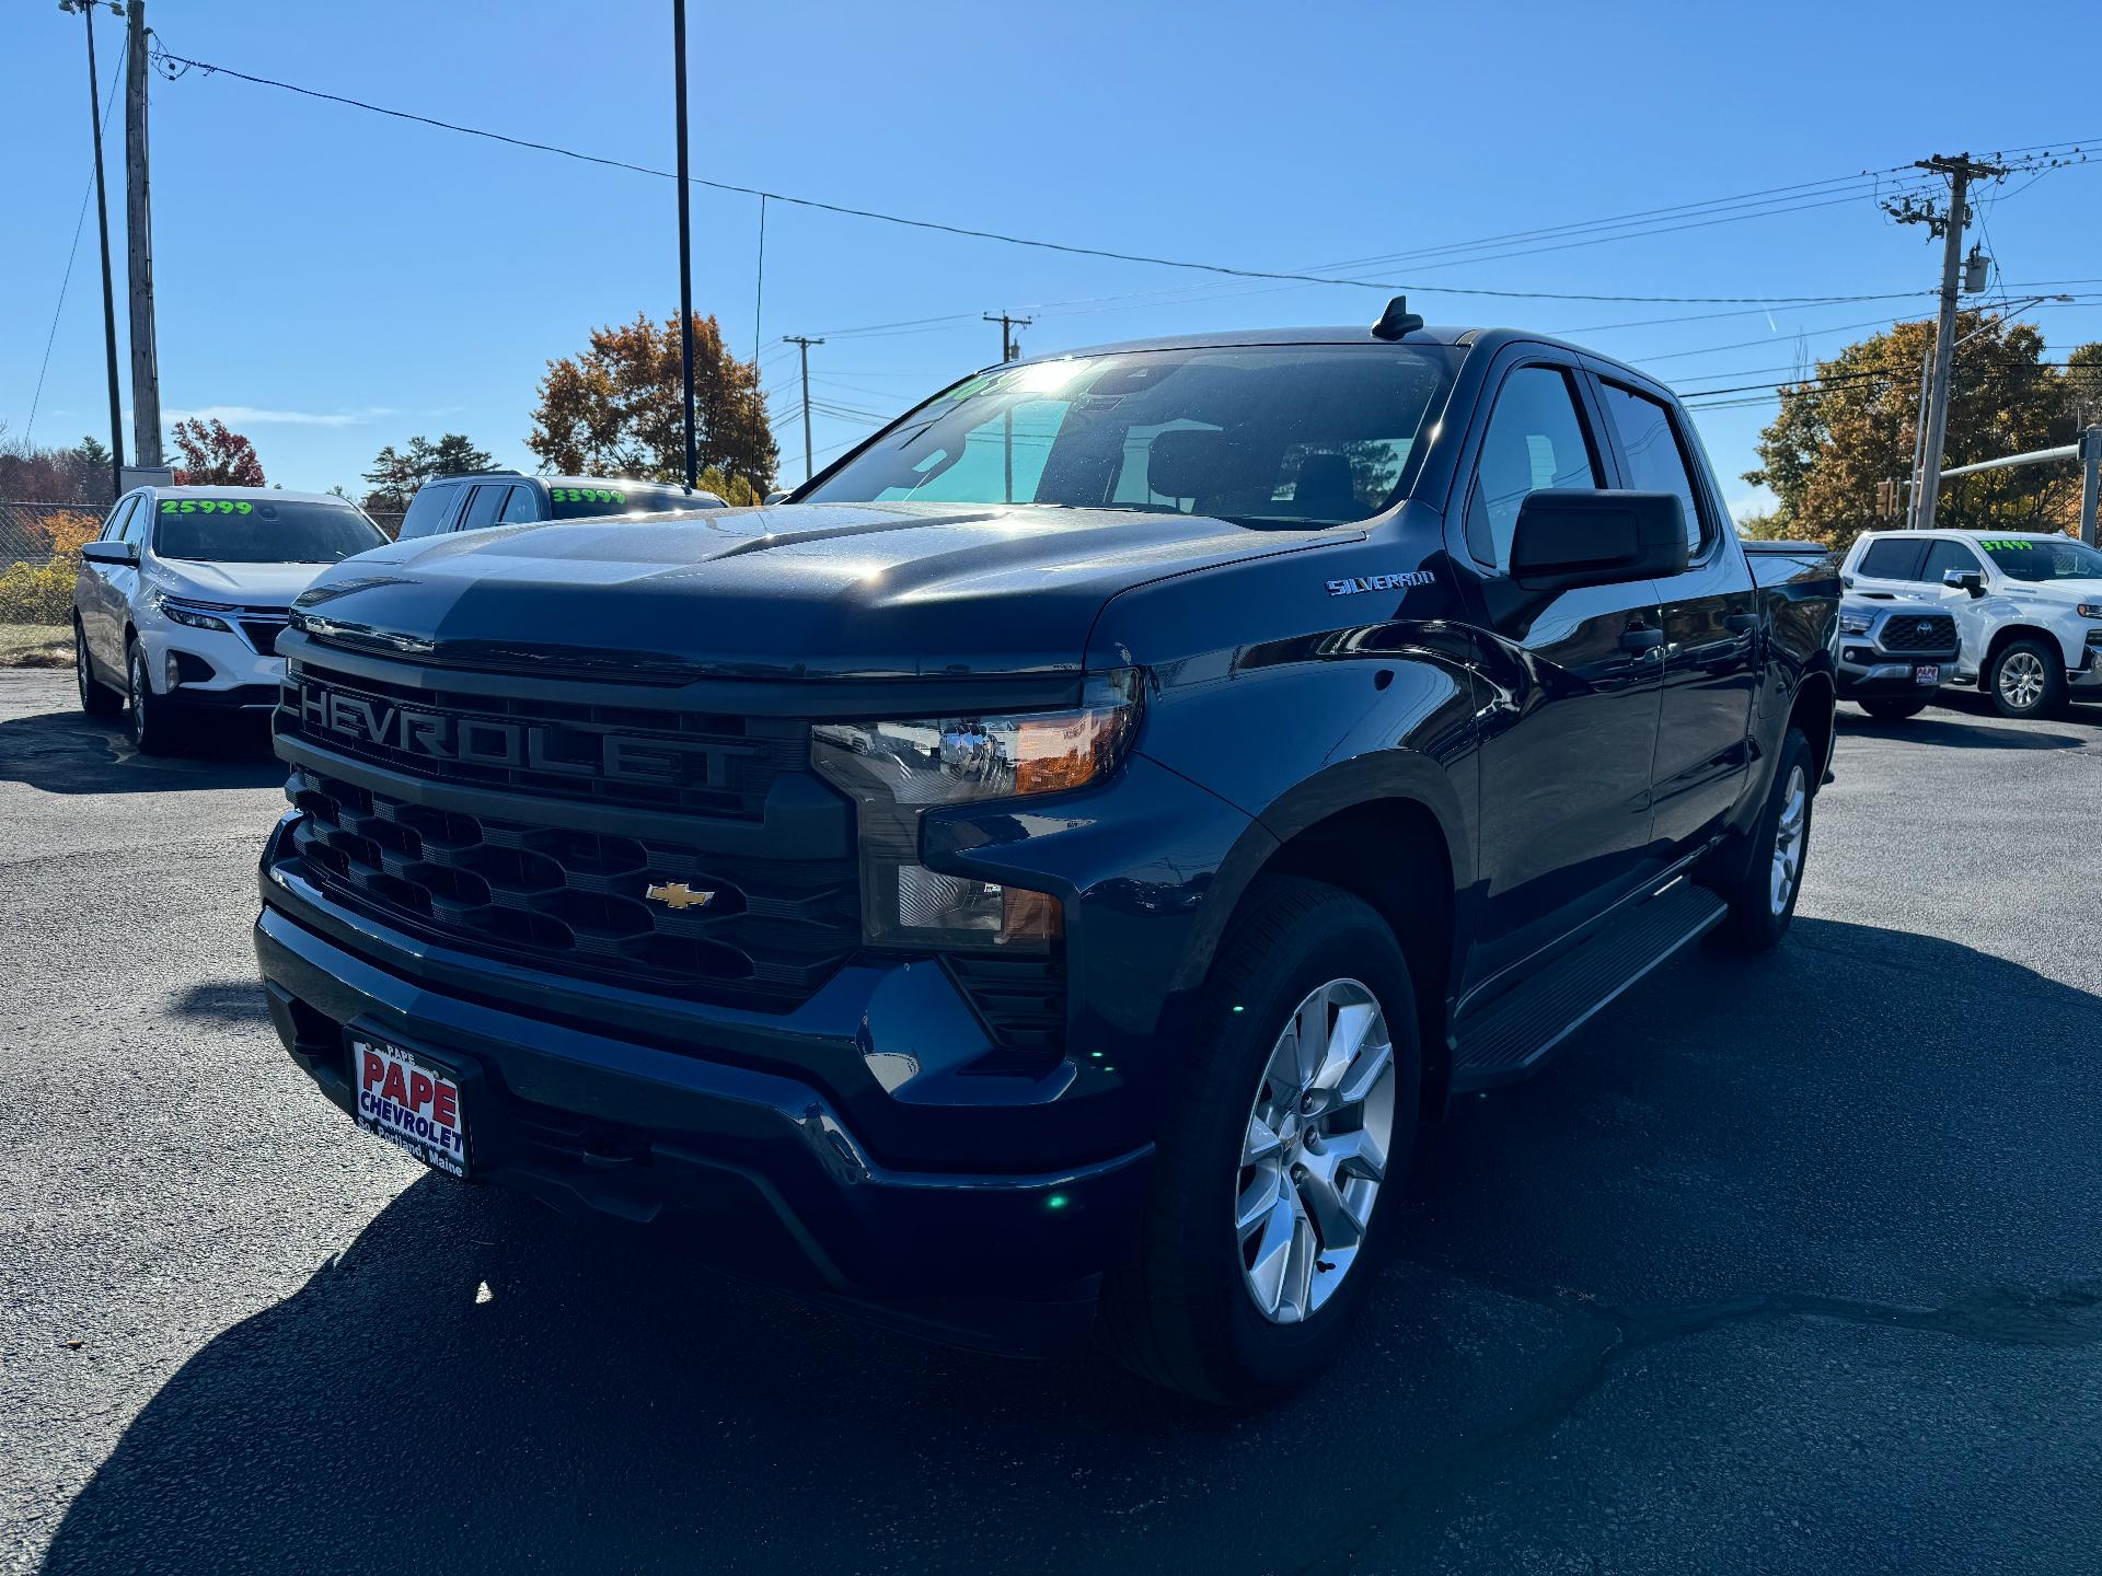
<svg viewBox="0 0 2102 1576">
<path fill-rule="evenodd" d="M 1787 1011 L 1743 1011 L 1753 994 Z M 1801 918 L 1766 958 L 1690 956 L 1455 1112 L 1347 1374 L 1244 1418 L 1091 1360 L 921 1345 L 696 1269 L 689 1233 L 425 1177 L 160 1387 L 46 1570 L 1297 1570 L 1366 1540 L 1419 1568 L 1463 1513 L 1463 1563 L 1509 1568 L 1511 1517 L 1589 1502 L 1526 1490 L 1574 1471 L 1549 1465 L 1572 1418 L 1604 1431 L 1583 1471 L 1661 1475 L 1656 1397 L 1616 1399 L 1616 1353 L 1730 1318 L 1831 1341 L 1854 1307 L 1902 1336 L 1944 1305 L 1999 1318 L 1978 1288 L 2091 1276 L 2098 1038 L 2096 996 L 1944 939 Z M 2024 1164 L 1980 1160 L 2003 1154 Z M 2068 1307 L 2045 1324 L 2089 1318 Z M 1959 1406 L 1934 1395 L 1965 1357 L 1934 1339 L 1890 1362 Z M 1829 1360 L 1787 1351 L 1757 1414 L 1701 1421 L 1730 1454 L 1690 1475 L 1757 1494 L 1799 1460 L 1791 1404 L 1825 1397 Z M 1940 1505 L 1978 1463 L 1907 1458 L 1911 1425 L 1820 1467 L 1829 1492 L 1871 1517 Z M 1644 1505 L 1663 1547 L 1711 1515 Z"/>
</svg>

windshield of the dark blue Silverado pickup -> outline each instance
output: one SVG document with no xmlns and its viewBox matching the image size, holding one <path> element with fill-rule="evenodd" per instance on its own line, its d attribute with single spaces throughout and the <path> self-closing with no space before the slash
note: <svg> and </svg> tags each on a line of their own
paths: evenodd
<svg viewBox="0 0 2102 1576">
<path fill-rule="evenodd" d="M 1286 345 L 1003 368 L 927 401 L 799 502 L 1148 509 L 1337 525 L 1415 479 L 1463 351 Z"/>
</svg>

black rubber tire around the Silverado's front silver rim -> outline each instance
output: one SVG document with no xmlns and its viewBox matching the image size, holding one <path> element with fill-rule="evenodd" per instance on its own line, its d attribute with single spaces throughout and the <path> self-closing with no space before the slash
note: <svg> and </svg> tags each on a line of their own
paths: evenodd
<svg viewBox="0 0 2102 1576">
<path fill-rule="evenodd" d="M 1362 983 L 1385 1017 L 1392 1137 L 1356 1259 L 1307 1318 L 1280 1324 L 1257 1307 L 1257 1271 L 1246 1269 L 1244 1236 L 1234 1223 L 1253 1175 L 1242 1145 L 1251 1110 L 1272 1086 L 1265 1070 L 1274 1046 L 1301 1002 L 1331 981 Z M 1402 1215 L 1396 1194 L 1406 1187 L 1415 1154 L 1421 1084 L 1415 988 L 1387 922 L 1314 880 L 1265 876 L 1251 887 L 1204 988 L 1137 1240 L 1104 1282 L 1101 1345 L 1143 1378 L 1223 1406 L 1274 1399 L 1314 1378 L 1343 1347 Z M 1318 1141 L 1303 1143 L 1286 1145 L 1272 1166 L 1295 1154 L 1328 1154 Z M 1299 1175 L 1297 1164 L 1289 1170 Z M 1341 1254 L 1328 1233 L 1310 1240 L 1320 1246 L 1301 1261 L 1312 1265 L 1307 1276 L 1335 1273 L 1328 1259 Z M 1259 1254 L 1261 1233 L 1246 1242 Z"/>
</svg>

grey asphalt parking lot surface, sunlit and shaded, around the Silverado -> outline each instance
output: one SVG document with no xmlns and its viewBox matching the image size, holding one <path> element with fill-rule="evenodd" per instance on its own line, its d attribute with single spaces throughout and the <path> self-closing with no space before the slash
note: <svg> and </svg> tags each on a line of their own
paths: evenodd
<svg viewBox="0 0 2102 1576">
<path fill-rule="evenodd" d="M 1423 1162 L 1217 1416 L 427 1175 L 252 986 L 252 740 L 0 670 L 0 1568 L 2102 1570 L 2102 710 L 1841 708 L 1801 916 Z"/>
</svg>

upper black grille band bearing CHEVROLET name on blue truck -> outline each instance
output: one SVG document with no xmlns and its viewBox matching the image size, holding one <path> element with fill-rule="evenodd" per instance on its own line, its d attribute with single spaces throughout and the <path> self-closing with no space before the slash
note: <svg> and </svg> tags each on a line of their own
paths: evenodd
<svg viewBox="0 0 2102 1576">
<path fill-rule="evenodd" d="M 809 723 L 414 689 L 292 662 L 277 733 L 433 782 L 759 820 Z"/>
</svg>

